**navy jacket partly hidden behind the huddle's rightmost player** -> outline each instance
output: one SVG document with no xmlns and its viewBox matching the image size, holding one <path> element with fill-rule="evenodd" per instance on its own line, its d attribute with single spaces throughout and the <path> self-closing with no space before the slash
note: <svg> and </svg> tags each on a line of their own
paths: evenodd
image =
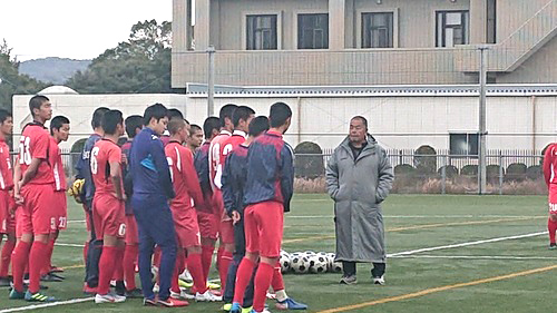
<svg viewBox="0 0 557 313">
<path fill-rule="evenodd" d="M 233 211 L 244 212 L 244 187 L 247 180 L 247 147 L 240 145 L 227 156 L 221 177 L 224 209 L 228 216 Z"/>
</svg>

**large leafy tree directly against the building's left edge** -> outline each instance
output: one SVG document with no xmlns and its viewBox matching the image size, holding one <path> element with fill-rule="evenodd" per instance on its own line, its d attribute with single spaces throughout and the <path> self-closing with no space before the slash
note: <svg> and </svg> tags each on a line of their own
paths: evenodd
<svg viewBox="0 0 557 313">
<path fill-rule="evenodd" d="M 170 47 L 170 22 L 138 22 L 127 41 L 95 58 L 67 85 L 80 94 L 172 92 Z"/>
</svg>

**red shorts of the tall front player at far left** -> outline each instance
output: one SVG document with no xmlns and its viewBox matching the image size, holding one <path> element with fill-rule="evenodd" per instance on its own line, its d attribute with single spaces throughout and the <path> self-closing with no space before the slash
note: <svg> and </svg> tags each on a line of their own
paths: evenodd
<svg viewBox="0 0 557 313">
<path fill-rule="evenodd" d="M 21 188 L 21 196 L 23 206 L 19 208 L 21 217 L 17 221 L 21 234 L 48 235 L 56 232 L 57 214 L 52 206 L 53 186 L 50 184 L 26 185 Z"/>
</svg>

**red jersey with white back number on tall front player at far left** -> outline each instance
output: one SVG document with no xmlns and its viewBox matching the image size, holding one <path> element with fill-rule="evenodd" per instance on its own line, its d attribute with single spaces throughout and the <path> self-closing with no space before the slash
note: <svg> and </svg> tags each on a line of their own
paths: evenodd
<svg viewBox="0 0 557 313">
<path fill-rule="evenodd" d="M 23 128 L 23 134 L 21 134 L 21 139 L 19 140 L 21 175 L 26 174 L 29 165 L 31 165 L 31 159 L 39 158 L 42 160 L 37 169 L 37 174 L 28 184 L 43 185 L 55 182 L 48 156 L 50 136 L 42 124 L 32 123 Z"/>
</svg>

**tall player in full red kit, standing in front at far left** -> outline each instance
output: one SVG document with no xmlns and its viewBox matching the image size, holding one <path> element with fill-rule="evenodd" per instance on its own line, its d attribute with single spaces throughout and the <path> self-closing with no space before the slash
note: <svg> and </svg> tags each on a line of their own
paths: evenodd
<svg viewBox="0 0 557 313">
<path fill-rule="evenodd" d="M 12 254 L 13 288 L 10 299 L 51 302 L 51 296 L 39 293 L 40 271 L 48 257 L 48 238 L 56 212 L 52 167 L 49 164 L 50 138 L 45 123 L 52 117 L 50 100 L 33 96 L 29 100 L 33 121 L 23 127 L 20 139 L 19 163 L 21 180 L 16 183 L 13 197 L 22 204 L 18 228 L 21 237 Z M 29 263 L 29 288 L 23 293 L 23 272 Z"/>
</svg>

